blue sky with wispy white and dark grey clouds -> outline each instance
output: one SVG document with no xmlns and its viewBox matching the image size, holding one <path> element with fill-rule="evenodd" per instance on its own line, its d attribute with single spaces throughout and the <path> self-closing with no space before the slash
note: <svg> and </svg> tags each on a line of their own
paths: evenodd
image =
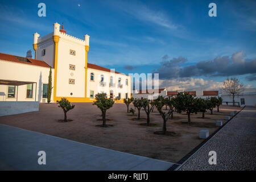
<svg viewBox="0 0 256 182">
<path fill-rule="evenodd" d="M 46 16 L 38 16 L 38 4 Z M 217 16 L 210 17 L 209 3 Z M 256 87 L 256 1 L 2 1 L 0 52 L 26 56 L 33 34 L 53 23 L 90 36 L 88 62 L 115 71 L 159 73 L 167 90 L 219 90 L 237 77 Z M 135 80 L 138 81 L 138 80 Z"/>
</svg>

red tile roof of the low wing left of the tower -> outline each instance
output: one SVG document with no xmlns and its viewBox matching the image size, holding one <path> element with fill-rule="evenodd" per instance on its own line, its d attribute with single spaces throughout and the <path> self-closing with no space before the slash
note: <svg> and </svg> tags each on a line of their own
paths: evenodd
<svg viewBox="0 0 256 182">
<path fill-rule="evenodd" d="M 21 56 L 14 56 L 14 55 L 8 55 L 6 53 L 0 53 L 0 60 L 11 61 L 11 62 L 14 62 L 14 63 L 36 65 L 36 66 L 39 66 L 39 67 L 46 67 L 46 68 L 50 67 L 48 64 L 46 64 L 44 61 L 41 61 L 41 60 L 22 57 L 22 58 L 27 59 L 28 61 L 30 61 L 30 63 L 29 63 L 29 62 L 25 62 L 25 61 L 20 61 L 16 57 L 21 57 Z"/>
</svg>

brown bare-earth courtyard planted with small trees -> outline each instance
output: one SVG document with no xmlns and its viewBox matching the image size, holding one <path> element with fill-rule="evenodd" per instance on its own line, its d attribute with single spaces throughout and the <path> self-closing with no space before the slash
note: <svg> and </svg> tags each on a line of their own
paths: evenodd
<svg viewBox="0 0 256 182">
<path fill-rule="evenodd" d="M 106 114 L 107 124 L 113 127 L 102 128 L 96 127 L 102 123 L 101 111 L 97 106 L 92 103 L 72 104 L 76 106 L 67 113 L 68 119 L 72 120 L 69 122 L 60 122 L 64 114 L 57 104 L 40 104 L 39 111 L 3 116 L 0 117 L 0 123 L 93 146 L 177 163 L 203 142 L 204 139 L 199 139 L 200 130 L 207 129 L 209 135 L 212 134 L 218 129 L 215 125 L 217 120 L 225 123 L 225 115 L 241 109 L 221 105 L 220 113 L 217 113 L 217 109 L 214 109 L 212 115 L 208 111 L 204 119 L 201 118 L 201 113 L 191 114 L 192 125 L 185 123 L 187 122 L 185 113 L 174 113 L 174 119 L 167 121 L 167 131 L 172 131 L 175 135 L 164 136 L 154 134 L 155 131 L 161 131 L 163 126 L 163 119 L 156 109 L 150 114 L 150 122 L 155 123 L 156 126 L 142 126 L 141 123 L 146 123 L 146 113 L 143 110 L 141 110 L 141 119 L 138 121 L 136 119 L 138 111 L 135 115 L 127 115 L 126 105 L 115 103 Z"/>
</svg>

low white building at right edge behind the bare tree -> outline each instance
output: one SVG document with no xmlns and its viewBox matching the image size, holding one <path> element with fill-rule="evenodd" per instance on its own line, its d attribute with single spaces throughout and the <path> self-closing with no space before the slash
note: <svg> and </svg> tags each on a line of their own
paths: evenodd
<svg viewBox="0 0 256 182">
<path fill-rule="evenodd" d="M 222 93 L 222 104 L 233 105 L 233 96 L 230 94 Z M 238 96 L 234 97 L 236 105 L 256 106 L 256 88 L 248 88 L 243 90 Z"/>
</svg>

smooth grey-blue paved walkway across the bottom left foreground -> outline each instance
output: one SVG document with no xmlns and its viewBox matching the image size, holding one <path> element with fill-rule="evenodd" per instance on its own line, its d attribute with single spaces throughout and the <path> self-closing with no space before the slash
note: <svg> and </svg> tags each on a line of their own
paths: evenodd
<svg viewBox="0 0 256 182">
<path fill-rule="evenodd" d="M 46 165 L 38 164 L 39 151 L 46 152 Z M 0 125 L 0 170 L 167 170 L 172 165 L 162 160 Z"/>
</svg>

